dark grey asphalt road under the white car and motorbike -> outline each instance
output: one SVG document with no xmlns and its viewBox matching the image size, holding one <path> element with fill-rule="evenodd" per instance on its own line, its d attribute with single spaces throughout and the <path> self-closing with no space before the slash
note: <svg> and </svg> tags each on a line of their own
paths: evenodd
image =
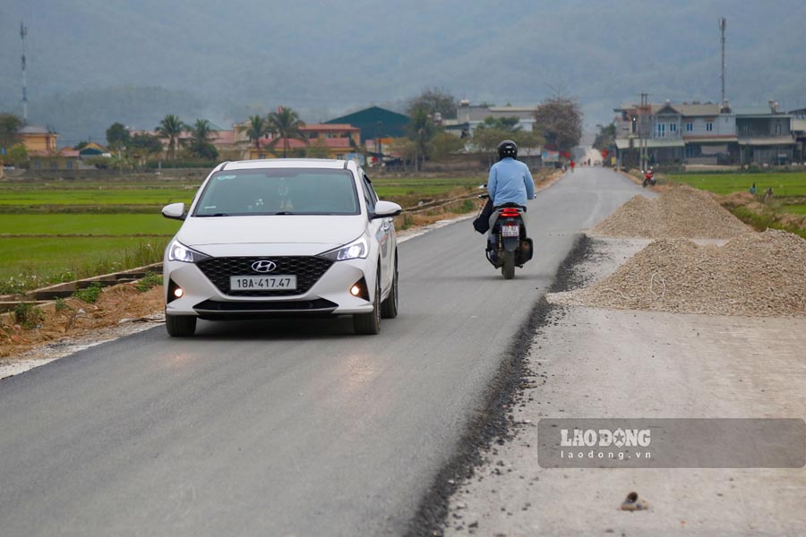
<svg viewBox="0 0 806 537">
<path fill-rule="evenodd" d="M 400 315 L 201 322 L 0 381 L 0 533 L 400 534 L 580 229 L 641 189 L 578 168 L 506 281 L 469 221 L 399 246 Z"/>
</svg>

